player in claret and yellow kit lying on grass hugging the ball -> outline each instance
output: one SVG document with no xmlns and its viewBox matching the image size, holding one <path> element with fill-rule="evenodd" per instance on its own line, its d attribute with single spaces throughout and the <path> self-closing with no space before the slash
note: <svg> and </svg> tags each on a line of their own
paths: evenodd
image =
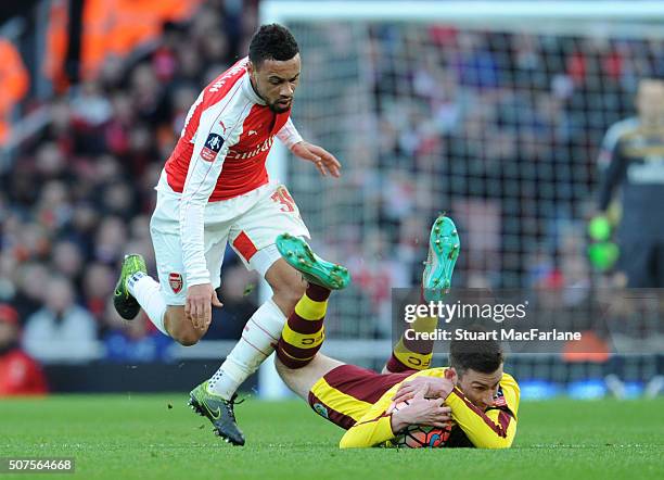
<svg viewBox="0 0 664 480">
<path fill-rule="evenodd" d="M 280 236 L 277 247 L 309 282 L 283 328 L 277 370 L 316 413 L 347 430 L 342 449 L 388 446 L 410 425 L 445 429 L 445 446 L 512 445 L 519 386 L 502 371 L 502 349 L 497 341 L 452 341 L 450 366 L 444 368 L 427 368 L 433 341 L 405 338 L 395 345 L 381 374 L 330 358 L 318 352 L 324 340 L 323 318 L 331 290 L 348 283 L 347 271 L 289 235 Z M 455 224 L 440 216 L 431 230 L 422 279 L 424 300 L 439 300 L 449 288 L 458 254 Z M 433 331 L 436 326 L 437 318 L 419 318 L 413 328 Z M 394 408 L 404 401 L 408 403 Z"/>
</svg>

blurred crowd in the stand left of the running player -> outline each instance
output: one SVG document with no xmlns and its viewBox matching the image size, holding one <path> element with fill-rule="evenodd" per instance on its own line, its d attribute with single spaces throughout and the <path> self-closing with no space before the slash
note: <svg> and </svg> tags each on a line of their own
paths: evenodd
<svg viewBox="0 0 664 480">
<path fill-rule="evenodd" d="M 255 8 L 210 1 L 166 23 L 156 45 L 106 58 L 93 80 L 50 101 L 52 119 L 0 172 L 0 302 L 23 348 L 43 362 L 154 362 L 171 341 L 142 316 L 124 321 L 111 298 L 125 253 L 154 273 L 153 190 L 203 85 L 244 52 Z M 232 2 L 230 2 L 232 3 Z M 33 105 L 34 106 L 34 105 Z M 227 254 L 208 339 L 234 339 L 255 310 L 256 279 Z M 234 319 L 238 319 L 234 321 Z"/>
</svg>

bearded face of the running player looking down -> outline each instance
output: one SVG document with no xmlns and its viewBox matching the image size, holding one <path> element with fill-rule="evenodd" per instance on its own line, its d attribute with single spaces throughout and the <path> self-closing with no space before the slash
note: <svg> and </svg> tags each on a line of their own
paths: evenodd
<svg viewBox="0 0 664 480">
<path fill-rule="evenodd" d="M 259 65 L 248 64 L 254 88 L 274 113 L 286 112 L 299 81 L 299 53 L 291 60 L 265 60 Z"/>
</svg>

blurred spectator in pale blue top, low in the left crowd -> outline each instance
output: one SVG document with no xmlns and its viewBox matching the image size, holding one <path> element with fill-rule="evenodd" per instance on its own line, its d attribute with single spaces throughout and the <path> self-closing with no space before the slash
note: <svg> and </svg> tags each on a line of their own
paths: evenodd
<svg viewBox="0 0 664 480">
<path fill-rule="evenodd" d="M 97 325 L 75 303 L 74 287 L 64 277 L 46 283 L 44 306 L 26 321 L 23 344 L 41 362 L 86 362 L 98 356 Z"/>
</svg>

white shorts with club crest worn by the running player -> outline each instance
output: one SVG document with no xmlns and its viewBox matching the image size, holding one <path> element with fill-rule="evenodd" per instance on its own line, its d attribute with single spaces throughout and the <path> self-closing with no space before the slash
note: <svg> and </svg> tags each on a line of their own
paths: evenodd
<svg viewBox="0 0 664 480">
<path fill-rule="evenodd" d="M 150 233 L 167 305 L 184 305 L 187 300 L 179 205 L 180 194 L 173 191 L 162 173 Z M 283 185 L 270 182 L 240 197 L 209 202 L 205 207 L 204 245 L 213 287 L 221 283 L 221 263 L 229 240 L 246 268 L 265 277 L 281 257 L 274 240 L 284 232 L 309 238 L 299 210 Z"/>
</svg>

